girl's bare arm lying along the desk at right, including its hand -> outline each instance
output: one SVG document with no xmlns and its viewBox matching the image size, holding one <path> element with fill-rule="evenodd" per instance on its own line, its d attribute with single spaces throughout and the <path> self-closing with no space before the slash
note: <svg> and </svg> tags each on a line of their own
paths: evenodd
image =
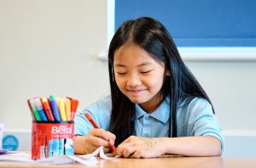
<svg viewBox="0 0 256 168">
<path fill-rule="evenodd" d="M 116 148 L 117 154 L 132 158 L 154 158 L 161 154 L 185 156 L 218 156 L 221 143 L 216 137 L 155 137 L 131 136 Z"/>
</svg>

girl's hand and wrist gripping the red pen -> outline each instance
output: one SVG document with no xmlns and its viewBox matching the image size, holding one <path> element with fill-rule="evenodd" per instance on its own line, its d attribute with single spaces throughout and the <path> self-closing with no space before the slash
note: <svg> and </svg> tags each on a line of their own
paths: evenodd
<svg viewBox="0 0 256 168">
<path fill-rule="evenodd" d="M 103 129 L 92 129 L 86 136 L 75 137 L 75 154 L 90 154 L 99 148 L 104 147 L 104 152 L 108 153 L 110 144 L 114 144 L 115 135 Z"/>
</svg>

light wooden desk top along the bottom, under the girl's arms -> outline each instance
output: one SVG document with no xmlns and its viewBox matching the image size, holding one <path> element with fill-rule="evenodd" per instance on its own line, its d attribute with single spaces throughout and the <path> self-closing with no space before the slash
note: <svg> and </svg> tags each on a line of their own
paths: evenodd
<svg viewBox="0 0 256 168">
<path fill-rule="evenodd" d="M 0 162 L 0 167 L 87 167 L 79 163 L 67 164 L 67 165 L 32 165 L 27 163 L 6 163 Z M 255 168 L 255 160 L 243 160 L 243 159 L 223 159 L 220 157 L 165 157 L 155 159 L 124 159 L 119 158 L 117 160 L 100 160 L 100 163 L 94 166 L 88 167 L 146 167 L 146 168 Z"/>
</svg>

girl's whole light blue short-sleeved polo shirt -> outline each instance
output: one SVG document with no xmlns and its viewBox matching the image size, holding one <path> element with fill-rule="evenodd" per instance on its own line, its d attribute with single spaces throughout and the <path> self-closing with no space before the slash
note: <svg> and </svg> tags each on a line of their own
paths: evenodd
<svg viewBox="0 0 256 168">
<path fill-rule="evenodd" d="M 111 97 L 108 96 L 77 113 L 74 119 L 75 133 L 86 135 L 93 128 L 84 117 L 85 113 L 90 113 L 102 129 L 109 131 L 111 108 Z M 169 113 L 170 97 L 168 96 L 151 114 L 136 104 L 134 122 L 136 136 L 168 137 Z M 204 98 L 193 98 L 189 104 L 181 103 L 177 107 L 177 137 L 189 136 L 217 137 L 222 144 L 222 149 L 224 148 L 224 137 L 218 119 L 212 113 L 211 104 Z"/>
</svg>

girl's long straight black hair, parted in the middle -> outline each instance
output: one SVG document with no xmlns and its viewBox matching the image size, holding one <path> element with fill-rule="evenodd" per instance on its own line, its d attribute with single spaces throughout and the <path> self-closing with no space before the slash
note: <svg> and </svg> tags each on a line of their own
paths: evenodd
<svg viewBox="0 0 256 168">
<path fill-rule="evenodd" d="M 172 36 L 158 20 L 141 17 L 137 20 L 128 20 L 123 23 L 113 36 L 108 50 L 108 70 L 112 98 L 112 114 L 110 131 L 115 134 L 116 145 L 122 143 L 134 133 L 135 104 L 131 102 L 116 84 L 113 70 L 114 53 L 126 42 L 132 42 L 143 48 L 153 59 L 165 64 L 171 76 L 166 76 L 160 92 L 170 96 L 169 137 L 177 137 L 177 104 L 186 100 L 187 104 L 192 98 L 207 99 L 195 76 L 183 63 Z M 214 110 L 213 110 L 214 113 Z"/>
</svg>

